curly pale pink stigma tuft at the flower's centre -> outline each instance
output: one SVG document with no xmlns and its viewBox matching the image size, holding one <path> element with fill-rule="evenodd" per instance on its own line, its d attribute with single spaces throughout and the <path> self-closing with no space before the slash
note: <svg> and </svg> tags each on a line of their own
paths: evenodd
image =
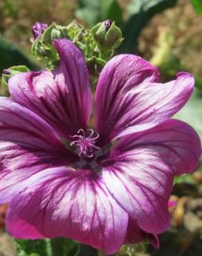
<svg viewBox="0 0 202 256">
<path fill-rule="evenodd" d="M 89 135 L 86 136 L 86 134 Z M 71 136 L 71 138 L 75 138 L 75 140 L 73 140 L 70 145 L 78 149 L 79 156 L 91 158 L 94 152 L 100 149 L 100 147 L 95 146 L 99 134 L 97 131 L 93 131 L 93 129 L 87 129 L 86 134 L 83 129 L 79 129 L 76 135 Z"/>
</svg>

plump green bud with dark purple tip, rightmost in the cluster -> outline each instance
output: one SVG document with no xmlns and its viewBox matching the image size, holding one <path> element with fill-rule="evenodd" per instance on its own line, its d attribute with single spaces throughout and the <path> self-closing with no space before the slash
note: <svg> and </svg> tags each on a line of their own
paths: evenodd
<svg viewBox="0 0 202 256">
<path fill-rule="evenodd" d="M 122 33 L 120 28 L 111 22 L 110 19 L 100 22 L 91 28 L 95 41 L 102 51 L 114 50 L 120 46 L 122 42 Z"/>
</svg>

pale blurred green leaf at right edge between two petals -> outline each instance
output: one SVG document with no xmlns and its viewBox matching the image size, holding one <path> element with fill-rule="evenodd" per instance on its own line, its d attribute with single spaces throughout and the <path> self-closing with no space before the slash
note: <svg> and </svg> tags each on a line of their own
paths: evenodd
<svg viewBox="0 0 202 256">
<path fill-rule="evenodd" d="M 187 122 L 189 125 L 194 127 L 199 133 L 202 139 L 202 98 L 197 93 L 196 89 L 192 94 L 190 100 L 185 104 L 185 107 L 181 109 L 174 118 Z"/>
</svg>

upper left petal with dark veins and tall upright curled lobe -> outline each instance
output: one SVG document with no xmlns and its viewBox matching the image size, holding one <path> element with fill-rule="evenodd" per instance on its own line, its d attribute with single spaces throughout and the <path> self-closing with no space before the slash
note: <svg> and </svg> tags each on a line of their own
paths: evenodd
<svg viewBox="0 0 202 256">
<path fill-rule="evenodd" d="M 91 113 L 91 86 L 82 53 L 67 39 L 54 42 L 59 66 L 53 72 L 14 75 L 8 82 L 13 100 L 31 109 L 64 136 L 86 129 Z"/>
</svg>

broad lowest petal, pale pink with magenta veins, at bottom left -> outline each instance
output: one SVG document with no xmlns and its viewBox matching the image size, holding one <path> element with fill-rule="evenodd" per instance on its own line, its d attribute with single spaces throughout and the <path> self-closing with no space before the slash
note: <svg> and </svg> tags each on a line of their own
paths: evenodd
<svg viewBox="0 0 202 256">
<path fill-rule="evenodd" d="M 13 237 L 71 237 L 111 254 L 123 244 L 127 222 L 100 176 L 59 167 L 28 180 L 10 203 L 6 227 Z"/>
</svg>

